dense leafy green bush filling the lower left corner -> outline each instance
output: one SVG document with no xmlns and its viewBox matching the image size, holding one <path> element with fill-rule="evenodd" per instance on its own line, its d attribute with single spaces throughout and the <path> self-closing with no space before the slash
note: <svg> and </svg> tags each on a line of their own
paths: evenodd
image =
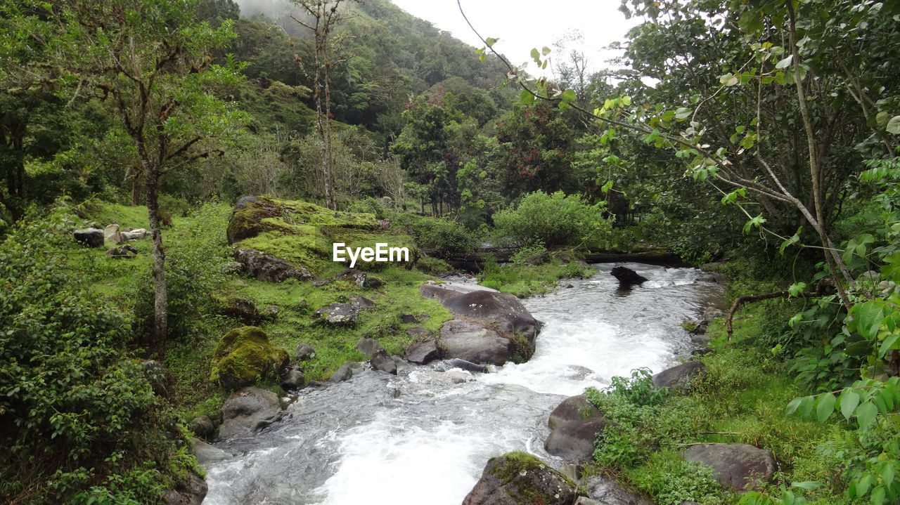
<svg viewBox="0 0 900 505">
<path fill-rule="evenodd" d="M 0 244 L 0 502 L 94 487 L 107 502 L 156 503 L 186 476 L 181 436 L 128 352 L 129 315 L 87 289 L 79 261 L 103 252 L 74 243 L 73 219 L 27 216 Z"/>
</svg>

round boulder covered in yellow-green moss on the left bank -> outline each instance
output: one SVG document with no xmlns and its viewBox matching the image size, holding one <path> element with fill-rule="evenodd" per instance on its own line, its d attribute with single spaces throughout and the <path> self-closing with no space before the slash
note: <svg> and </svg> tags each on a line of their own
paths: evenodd
<svg viewBox="0 0 900 505">
<path fill-rule="evenodd" d="M 212 355 L 211 379 L 226 389 L 238 389 L 257 377 L 275 377 L 288 363 L 287 351 L 269 342 L 257 326 L 235 328 L 219 342 Z"/>
</svg>

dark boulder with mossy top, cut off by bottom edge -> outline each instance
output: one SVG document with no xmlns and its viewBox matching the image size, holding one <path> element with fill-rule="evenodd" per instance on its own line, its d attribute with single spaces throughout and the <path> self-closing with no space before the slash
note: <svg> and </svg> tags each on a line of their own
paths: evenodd
<svg viewBox="0 0 900 505">
<path fill-rule="evenodd" d="M 491 457 L 463 505 L 570 505 L 578 486 L 540 459 L 524 452 Z"/>
</svg>

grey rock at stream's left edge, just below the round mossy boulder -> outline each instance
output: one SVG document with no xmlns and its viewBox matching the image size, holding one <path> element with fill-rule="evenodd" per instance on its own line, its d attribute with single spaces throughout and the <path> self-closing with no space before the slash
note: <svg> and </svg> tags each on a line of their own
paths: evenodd
<svg viewBox="0 0 900 505">
<path fill-rule="evenodd" d="M 249 435 L 281 419 L 278 395 L 261 387 L 250 386 L 231 394 L 222 404 L 219 438 Z"/>
</svg>

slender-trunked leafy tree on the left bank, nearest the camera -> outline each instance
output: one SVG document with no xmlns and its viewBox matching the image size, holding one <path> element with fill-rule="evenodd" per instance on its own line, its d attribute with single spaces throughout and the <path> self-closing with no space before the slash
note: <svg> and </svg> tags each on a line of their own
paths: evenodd
<svg viewBox="0 0 900 505">
<path fill-rule="evenodd" d="M 209 50 L 234 36 L 195 22 L 196 3 L 154 0 L 19 2 L 28 40 L 48 49 L 43 61 L 14 61 L 34 81 L 52 82 L 71 101 L 108 105 L 135 147 L 145 181 L 153 242 L 154 337 L 166 338 L 166 253 L 159 216 L 160 179 L 193 161 L 220 154 L 215 140 L 236 131 L 246 114 L 215 92 L 239 82 L 239 66 L 211 65 Z"/>
</svg>

